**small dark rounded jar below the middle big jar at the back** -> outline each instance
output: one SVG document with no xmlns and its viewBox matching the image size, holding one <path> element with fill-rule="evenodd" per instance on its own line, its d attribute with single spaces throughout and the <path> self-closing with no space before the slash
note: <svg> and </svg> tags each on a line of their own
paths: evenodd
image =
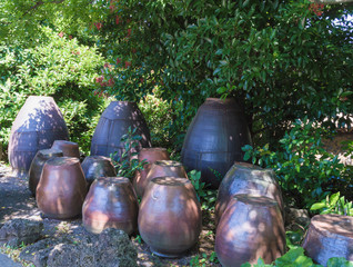
<svg viewBox="0 0 353 267">
<path fill-rule="evenodd" d="M 89 187 L 99 177 L 117 176 L 117 171 L 111 159 L 103 156 L 89 156 L 84 158 L 81 167 Z"/>
</svg>

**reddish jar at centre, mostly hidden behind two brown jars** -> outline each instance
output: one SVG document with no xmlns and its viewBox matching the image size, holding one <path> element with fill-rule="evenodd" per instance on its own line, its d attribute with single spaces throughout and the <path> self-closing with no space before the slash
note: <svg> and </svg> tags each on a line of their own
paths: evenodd
<svg viewBox="0 0 353 267">
<path fill-rule="evenodd" d="M 139 161 L 145 160 L 148 164 L 143 166 L 142 170 L 138 170 L 133 178 L 133 187 L 139 197 L 142 197 L 143 190 L 147 186 L 147 176 L 151 169 L 152 164 L 158 160 L 168 160 L 169 152 L 165 148 L 142 148 L 138 156 Z"/>
</svg>

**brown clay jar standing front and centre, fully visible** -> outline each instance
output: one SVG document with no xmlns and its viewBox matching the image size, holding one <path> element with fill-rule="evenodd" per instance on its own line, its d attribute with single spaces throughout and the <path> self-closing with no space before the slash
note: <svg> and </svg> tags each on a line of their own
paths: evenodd
<svg viewBox="0 0 353 267">
<path fill-rule="evenodd" d="M 189 179 L 154 178 L 139 212 L 139 230 L 153 254 L 179 257 L 192 248 L 201 231 L 201 208 Z"/>
</svg>

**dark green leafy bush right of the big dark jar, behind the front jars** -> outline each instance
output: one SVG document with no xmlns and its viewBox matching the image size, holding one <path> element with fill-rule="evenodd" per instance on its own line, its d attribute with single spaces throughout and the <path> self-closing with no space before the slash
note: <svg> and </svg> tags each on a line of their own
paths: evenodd
<svg viewBox="0 0 353 267">
<path fill-rule="evenodd" d="M 346 167 L 337 156 L 329 154 L 322 147 L 324 130 L 309 120 L 296 120 L 290 132 L 280 140 L 279 151 L 263 148 L 243 147 L 244 160 L 273 168 L 292 205 L 309 208 L 322 199 L 322 196 L 337 187 L 350 184 L 345 176 Z"/>
</svg>

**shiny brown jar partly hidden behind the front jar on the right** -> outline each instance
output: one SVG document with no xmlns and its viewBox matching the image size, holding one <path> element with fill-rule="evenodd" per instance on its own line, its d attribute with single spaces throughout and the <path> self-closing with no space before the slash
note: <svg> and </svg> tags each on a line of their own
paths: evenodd
<svg viewBox="0 0 353 267">
<path fill-rule="evenodd" d="M 228 202 L 236 194 L 264 196 L 275 200 L 284 212 L 281 188 L 272 169 L 246 162 L 235 162 L 223 178 L 215 201 L 215 220 L 220 220 Z"/>
</svg>

